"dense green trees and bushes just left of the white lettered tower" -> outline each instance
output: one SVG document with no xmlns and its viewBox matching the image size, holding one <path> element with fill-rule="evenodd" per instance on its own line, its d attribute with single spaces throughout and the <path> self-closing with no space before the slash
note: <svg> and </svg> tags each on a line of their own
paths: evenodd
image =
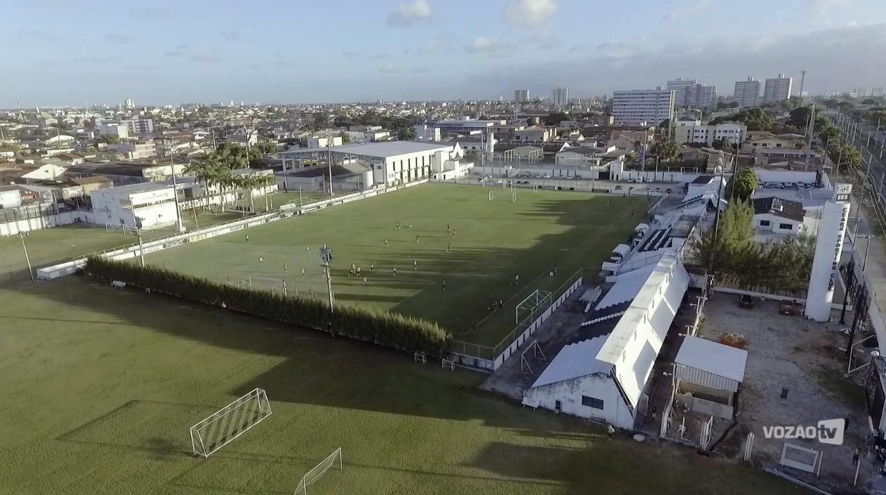
<svg viewBox="0 0 886 495">
<path fill-rule="evenodd" d="M 720 215 L 717 239 L 708 229 L 694 244 L 696 259 L 709 267 L 715 283 L 746 290 L 803 294 L 812 273 L 815 238 L 808 233 L 766 244 L 753 240 L 754 208 L 747 201 L 729 203 Z"/>
</svg>

